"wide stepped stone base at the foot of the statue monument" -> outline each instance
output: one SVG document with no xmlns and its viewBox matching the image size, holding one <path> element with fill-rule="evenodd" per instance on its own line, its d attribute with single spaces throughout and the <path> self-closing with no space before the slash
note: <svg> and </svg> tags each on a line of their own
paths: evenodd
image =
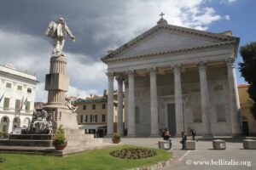
<svg viewBox="0 0 256 170">
<path fill-rule="evenodd" d="M 49 134 L 11 134 L 9 139 L 0 139 L 0 153 L 25 153 L 32 155 L 68 156 L 113 146 L 95 139 L 94 134 L 85 134 L 82 129 L 65 129 L 67 147 L 55 150 L 53 135 Z"/>
</svg>

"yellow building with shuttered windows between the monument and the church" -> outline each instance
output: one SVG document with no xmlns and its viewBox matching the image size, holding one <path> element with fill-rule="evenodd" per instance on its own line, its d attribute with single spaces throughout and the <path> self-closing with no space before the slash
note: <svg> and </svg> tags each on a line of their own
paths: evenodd
<svg viewBox="0 0 256 170">
<path fill-rule="evenodd" d="M 114 94 L 113 99 L 117 99 Z M 116 132 L 117 122 L 117 101 L 114 101 L 113 122 Z M 79 108 L 78 113 L 79 128 L 84 129 L 85 133 L 95 133 L 96 137 L 103 137 L 107 133 L 107 113 L 108 96 L 91 96 L 86 99 L 77 99 L 75 105 Z"/>
</svg>

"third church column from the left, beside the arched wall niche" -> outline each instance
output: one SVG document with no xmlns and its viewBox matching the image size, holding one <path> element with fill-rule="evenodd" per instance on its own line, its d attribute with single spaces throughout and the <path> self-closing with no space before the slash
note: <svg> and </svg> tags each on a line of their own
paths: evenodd
<svg viewBox="0 0 256 170">
<path fill-rule="evenodd" d="M 135 137 L 134 71 L 128 71 L 128 137 Z"/>
</svg>

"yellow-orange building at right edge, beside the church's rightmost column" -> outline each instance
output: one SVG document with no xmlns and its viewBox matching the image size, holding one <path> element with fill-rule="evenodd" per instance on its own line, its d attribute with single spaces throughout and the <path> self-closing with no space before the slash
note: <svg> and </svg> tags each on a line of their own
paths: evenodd
<svg viewBox="0 0 256 170">
<path fill-rule="evenodd" d="M 238 86 L 242 127 L 246 136 L 256 136 L 256 120 L 253 118 L 253 114 L 250 111 L 250 108 L 253 105 L 253 100 L 250 99 L 247 89 L 248 85 Z"/>
</svg>

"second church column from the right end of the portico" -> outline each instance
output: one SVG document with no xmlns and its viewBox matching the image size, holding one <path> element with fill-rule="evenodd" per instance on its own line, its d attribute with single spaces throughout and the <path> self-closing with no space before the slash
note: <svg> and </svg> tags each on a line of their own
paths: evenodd
<svg viewBox="0 0 256 170">
<path fill-rule="evenodd" d="M 209 91 L 207 84 L 207 63 L 200 62 L 199 66 L 199 74 L 200 74 L 200 89 L 201 89 L 201 116 L 202 123 L 204 125 L 205 133 L 203 137 L 211 138 L 212 137 L 212 125 L 211 125 L 211 117 L 210 117 L 210 99 L 209 99 Z"/>
</svg>

